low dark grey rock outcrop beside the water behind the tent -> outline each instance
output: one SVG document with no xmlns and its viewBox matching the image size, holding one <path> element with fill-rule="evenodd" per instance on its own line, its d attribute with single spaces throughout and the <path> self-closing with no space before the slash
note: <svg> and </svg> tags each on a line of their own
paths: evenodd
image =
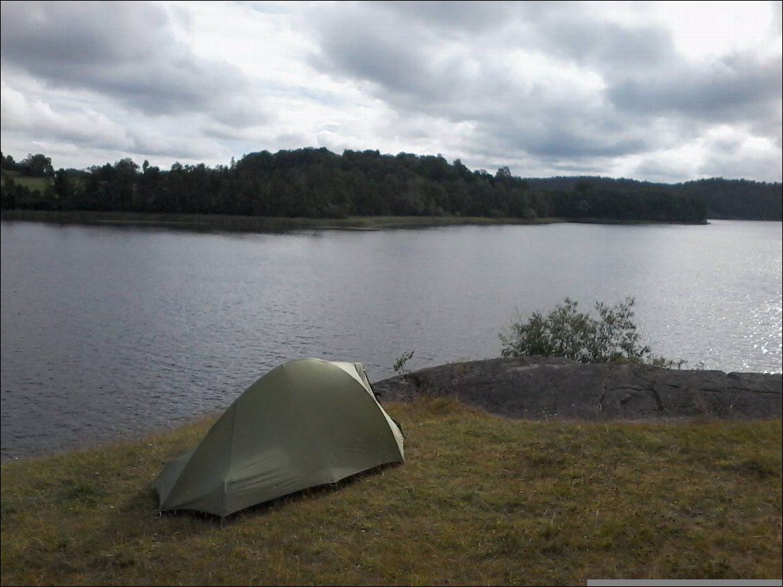
<svg viewBox="0 0 783 587">
<path fill-rule="evenodd" d="M 448 363 L 373 383 L 381 402 L 449 395 L 489 412 L 544 420 L 781 418 L 781 374 L 663 369 L 519 357 Z"/>
</svg>

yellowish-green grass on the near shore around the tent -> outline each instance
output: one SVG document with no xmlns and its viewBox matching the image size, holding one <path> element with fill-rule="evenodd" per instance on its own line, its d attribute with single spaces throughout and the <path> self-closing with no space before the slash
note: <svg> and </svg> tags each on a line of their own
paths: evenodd
<svg viewBox="0 0 783 587">
<path fill-rule="evenodd" d="M 2 585 L 579 585 L 780 578 L 781 421 L 386 405 L 406 463 L 218 520 L 149 486 L 212 420 L 2 464 Z"/>
</svg>

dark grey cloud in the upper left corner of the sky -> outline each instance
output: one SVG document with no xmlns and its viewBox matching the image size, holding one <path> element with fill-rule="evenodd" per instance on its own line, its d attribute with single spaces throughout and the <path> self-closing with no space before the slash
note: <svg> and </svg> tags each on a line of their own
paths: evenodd
<svg viewBox="0 0 783 587">
<path fill-rule="evenodd" d="M 0 27 L 4 67 L 147 114 L 219 114 L 221 99 L 248 88 L 239 68 L 177 41 L 150 2 L 2 2 Z"/>
</svg>

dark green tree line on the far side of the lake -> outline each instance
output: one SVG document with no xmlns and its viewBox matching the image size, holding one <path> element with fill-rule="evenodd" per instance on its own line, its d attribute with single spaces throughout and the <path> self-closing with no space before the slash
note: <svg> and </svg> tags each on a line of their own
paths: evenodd
<svg viewBox="0 0 783 587">
<path fill-rule="evenodd" d="M 732 190 L 756 206 L 758 194 L 780 184 L 716 179 L 666 185 L 608 178 L 524 179 L 508 167 L 471 171 L 460 160 L 377 150 L 280 150 L 250 153 L 229 165 L 175 163 L 164 170 L 132 159 L 84 170 L 55 171 L 38 153 L 16 162 L 2 156 L 4 209 L 236 214 L 270 217 L 471 216 L 605 221 L 703 222 L 719 193 L 734 206 Z M 23 178 L 41 178 L 36 186 Z M 562 181 L 558 181 L 562 180 Z M 720 189 L 715 189 L 716 186 Z M 747 197 L 745 197 L 745 195 Z M 745 201 L 743 200 L 743 201 Z M 774 198 L 772 198 L 774 204 Z M 733 209 L 732 209 L 733 210 Z M 743 218 L 742 211 L 737 214 Z M 775 218 L 769 218 L 775 219 Z"/>
</svg>

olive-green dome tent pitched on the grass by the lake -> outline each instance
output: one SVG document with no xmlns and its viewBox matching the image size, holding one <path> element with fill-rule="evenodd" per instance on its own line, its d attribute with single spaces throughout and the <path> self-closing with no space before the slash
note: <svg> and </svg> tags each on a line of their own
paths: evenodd
<svg viewBox="0 0 783 587">
<path fill-rule="evenodd" d="M 226 517 L 403 461 L 402 430 L 377 402 L 362 364 L 303 358 L 248 387 L 153 488 L 161 511 Z"/>
</svg>

